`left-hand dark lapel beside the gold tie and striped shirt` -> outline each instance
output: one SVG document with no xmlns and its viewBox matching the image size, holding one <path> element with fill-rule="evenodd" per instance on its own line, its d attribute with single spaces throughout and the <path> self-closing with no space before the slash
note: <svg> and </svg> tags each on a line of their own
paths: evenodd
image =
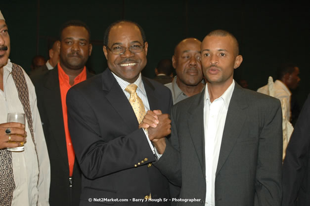
<svg viewBox="0 0 310 206">
<path fill-rule="evenodd" d="M 139 124 L 133 112 L 133 108 L 110 69 L 106 69 L 102 73 L 102 89 L 108 92 L 106 95 L 107 100 L 124 120 L 126 123 L 125 125 L 127 125 L 130 130 L 138 128 Z"/>
</svg>

